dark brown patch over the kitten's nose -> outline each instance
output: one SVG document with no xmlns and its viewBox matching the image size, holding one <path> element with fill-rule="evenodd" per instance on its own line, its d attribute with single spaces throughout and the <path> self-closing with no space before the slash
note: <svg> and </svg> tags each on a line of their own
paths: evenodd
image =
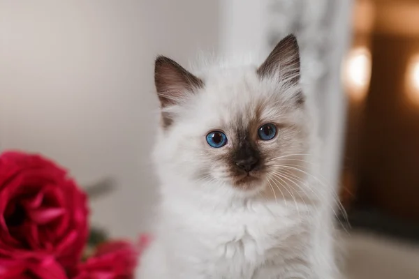
<svg viewBox="0 0 419 279">
<path fill-rule="evenodd" d="M 251 142 L 247 132 L 237 133 L 237 146 L 233 151 L 233 160 L 238 169 L 250 172 L 258 167 L 260 162 L 260 153 L 256 146 Z"/>
</svg>

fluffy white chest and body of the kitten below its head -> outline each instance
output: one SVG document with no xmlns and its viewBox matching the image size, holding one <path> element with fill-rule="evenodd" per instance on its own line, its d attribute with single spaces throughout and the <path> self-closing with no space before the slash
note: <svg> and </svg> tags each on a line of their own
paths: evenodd
<svg viewBox="0 0 419 279">
<path fill-rule="evenodd" d="M 210 209 L 172 200 L 162 208 L 157 242 L 142 259 L 152 276 L 138 278 L 319 278 L 311 277 L 311 209 L 288 206 L 249 202 Z M 152 271 L 156 264 L 161 277 Z"/>
</svg>

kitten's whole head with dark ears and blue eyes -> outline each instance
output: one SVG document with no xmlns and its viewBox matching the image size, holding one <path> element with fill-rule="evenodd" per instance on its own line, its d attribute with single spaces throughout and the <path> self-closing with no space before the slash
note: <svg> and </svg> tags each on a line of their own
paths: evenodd
<svg viewBox="0 0 419 279">
<path fill-rule="evenodd" d="M 260 66 L 194 75 L 159 56 L 156 160 L 162 175 L 246 193 L 269 186 L 286 158 L 307 153 L 309 127 L 299 82 L 300 54 L 292 35 Z"/>
</svg>

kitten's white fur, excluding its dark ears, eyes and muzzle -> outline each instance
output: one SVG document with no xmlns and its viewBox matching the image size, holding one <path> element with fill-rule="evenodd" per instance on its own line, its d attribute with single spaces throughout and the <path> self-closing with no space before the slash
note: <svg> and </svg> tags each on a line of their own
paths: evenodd
<svg viewBox="0 0 419 279">
<path fill-rule="evenodd" d="M 319 176 L 310 96 L 304 107 L 295 107 L 292 98 L 300 88 L 281 77 L 260 80 L 256 65 L 224 64 L 198 76 L 205 88 L 166 108 L 175 120 L 168 130 L 160 130 L 154 152 L 161 204 L 154 239 L 140 259 L 136 278 L 337 278 L 334 196 Z M 264 142 L 263 148 L 278 144 L 279 156 L 309 154 L 281 161 L 309 173 L 289 168 L 288 180 L 282 180 L 287 189 L 281 188 L 280 180 L 279 188 L 272 186 L 272 179 L 253 191 L 234 188 L 223 176 L 224 166 L 207 155 L 223 151 L 207 150 L 205 135 L 228 130 L 237 119 L 250 119 L 260 102 L 261 122 L 293 127 L 280 131 L 276 141 L 282 142 Z M 202 169 L 208 169 L 210 178 L 193 179 Z"/>
</svg>

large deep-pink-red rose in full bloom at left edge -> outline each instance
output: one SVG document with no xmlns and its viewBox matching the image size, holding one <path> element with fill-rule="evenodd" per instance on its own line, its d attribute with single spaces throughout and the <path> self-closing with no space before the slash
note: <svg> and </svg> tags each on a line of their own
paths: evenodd
<svg viewBox="0 0 419 279">
<path fill-rule="evenodd" d="M 87 197 L 64 169 L 37 155 L 1 154 L 0 277 L 24 263 L 30 278 L 65 278 L 63 267 L 80 261 L 87 216 Z"/>
</svg>

